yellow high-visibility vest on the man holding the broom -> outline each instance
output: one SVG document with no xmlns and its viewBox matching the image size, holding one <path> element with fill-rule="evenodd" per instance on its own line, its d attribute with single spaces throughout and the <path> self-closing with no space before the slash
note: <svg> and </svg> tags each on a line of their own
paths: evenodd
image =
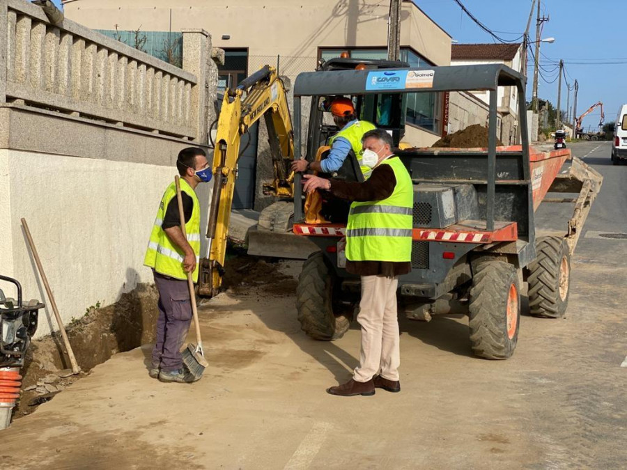
<svg viewBox="0 0 627 470">
<path fill-rule="evenodd" d="M 194 254 L 196 255 L 196 269 L 194 269 L 192 273 L 192 279 L 194 279 L 194 282 L 197 282 L 198 263 L 200 260 L 200 205 L 196 197 L 196 192 L 183 178 L 180 179 L 180 190 L 194 201 L 192 217 L 190 217 L 189 221 L 185 224 L 185 233 L 187 235 L 187 242 L 192 246 Z M 170 276 L 175 279 L 187 279 L 187 273 L 185 269 L 183 269 L 183 258 L 185 258 L 185 254 L 170 240 L 163 228 L 161 228 L 168 205 L 173 198 L 176 199 L 176 186 L 174 182 L 168 186 L 161 198 L 159 210 L 157 210 L 157 217 L 155 218 L 155 225 L 153 226 L 152 233 L 150 233 L 150 241 L 148 242 L 148 249 L 144 257 L 144 265 L 152 267 L 156 272 L 164 276 Z"/>
</svg>

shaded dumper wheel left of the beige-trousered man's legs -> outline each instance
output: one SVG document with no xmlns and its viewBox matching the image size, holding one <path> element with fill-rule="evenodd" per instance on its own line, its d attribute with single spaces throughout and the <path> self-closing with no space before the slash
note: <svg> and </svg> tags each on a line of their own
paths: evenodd
<svg viewBox="0 0 627 470">
<path fill-rule="evenodd" d="M 300 328 L 317 340 L 341 338 L 353 320 L 352 308 L 339 305 L 341 291 L 323 253 L 314 253 L 302 265 L 296 288 Z"/>
</svg>

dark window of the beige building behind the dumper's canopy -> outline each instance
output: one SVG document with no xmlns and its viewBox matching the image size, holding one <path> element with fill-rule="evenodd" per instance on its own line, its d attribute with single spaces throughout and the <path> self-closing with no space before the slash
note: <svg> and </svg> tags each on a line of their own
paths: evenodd
<svg viewBox="0 0 627 470">
<path fill-rule="evenodd" d="M 387 58 L 387 49 L 320 49 L 320 58 L 327 61 L 348 52 L 351 58 L 380 59 Z M 411 49 L 401 49 L 401 61 L 411 67 L 431 67 L 433 63 L 426 60 Z M 421 127 L 440 134 L 442 132 L 442 94 L 441 93 L 407 93 L 405 94 L 405 123 Z"/>
</svg>

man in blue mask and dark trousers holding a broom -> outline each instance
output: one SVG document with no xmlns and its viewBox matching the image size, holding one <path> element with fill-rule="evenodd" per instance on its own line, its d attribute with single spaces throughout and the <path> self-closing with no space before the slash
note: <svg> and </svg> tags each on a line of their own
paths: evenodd
<svg viewBox="0 0 627 470">
<path fill-rule="evenodd" d="M 201 208 L 194 190 L 200 182 L 209 182 L 212 172 L 204 150 L 196 147 L 179 152 L 176 168 L 187 239 L 180 228 L 176 187 L 171 182 L 161 198 L 144 258 L 159 291 L 157 342 L 148 375 L 161 382 L 190 383 L 194 377 L 183 366 L 180 347 L 192 321 L 186 273 L 192 272 L 192 279 L 198 281 Z"/>
</svg>

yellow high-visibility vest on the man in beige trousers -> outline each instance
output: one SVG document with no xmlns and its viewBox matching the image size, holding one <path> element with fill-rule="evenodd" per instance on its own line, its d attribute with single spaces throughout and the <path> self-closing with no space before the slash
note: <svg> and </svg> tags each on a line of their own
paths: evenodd
<svg viewBox="0 0 627 470">
<path fill-rule="evenodd" d="M 398 157 L 381 165 L 394 171 L 396 187 L 387 199 L 350 205 L 346 226 L 346 259 L 394 261 L 412 259 L 412 179 Z"/>
</svg>

